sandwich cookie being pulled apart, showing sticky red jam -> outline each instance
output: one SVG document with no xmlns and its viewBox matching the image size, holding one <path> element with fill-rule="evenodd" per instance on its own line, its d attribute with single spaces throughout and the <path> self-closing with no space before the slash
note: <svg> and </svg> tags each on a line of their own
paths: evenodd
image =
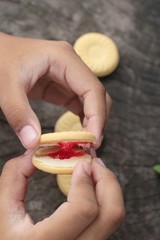
<svg viewBox="0 0 160 240">
<path fill-rule="evenodd" d="M 54 132 L 41 135 L 32 163 L 52 174 L 71 174 L 79 161 L 92 161 L 94 134 L 82 131 Z"/>
</svg>

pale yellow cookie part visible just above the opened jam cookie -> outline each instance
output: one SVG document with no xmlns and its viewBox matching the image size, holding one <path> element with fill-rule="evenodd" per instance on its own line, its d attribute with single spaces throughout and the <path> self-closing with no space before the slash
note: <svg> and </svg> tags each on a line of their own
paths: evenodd
<svg viewBox="0 0 160 240">
<path fill-rule="evenodd" d="M 82 124 L 79 116 L 70 111 L 64 113 L 55 124 L 55 132 L 80 130 L 82 130 Z"/>
</svg>

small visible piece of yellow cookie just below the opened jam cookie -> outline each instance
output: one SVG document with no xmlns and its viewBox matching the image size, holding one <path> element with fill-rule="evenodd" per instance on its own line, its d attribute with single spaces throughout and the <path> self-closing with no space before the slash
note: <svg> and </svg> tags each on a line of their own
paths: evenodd
<svg viewBox="0 0 160 240">
<path fill-rule="evenodd" d="M 57 175 L 58 187 L 65 196 L 68 195 L 68 192 L 69 192 L 69 189 L 70 189 L 71 177 L 72 177 L 72 175 L 70 175 L 70 174 L 65 174 L 65 175 L 59 174 L 59 175 Z"/>
</svg>

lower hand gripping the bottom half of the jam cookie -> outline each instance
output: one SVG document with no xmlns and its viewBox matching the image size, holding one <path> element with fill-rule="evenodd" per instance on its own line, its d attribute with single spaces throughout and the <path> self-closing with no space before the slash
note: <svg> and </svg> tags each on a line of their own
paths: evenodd
<svg viewBox="0 0 160 240">
<path fill-rule="evenodd" d="M 3 240 L 106 240 L 124 218 L 121 188 L 95 159 L 76 165 L 67 202 L 33 224 L 25 211 L 28 178 L 35 169 L 28 154 L 10 160 L 0 178 L 0 236 Z M 91 177 L 92 176 L 92 177 Z"/>
</svg>

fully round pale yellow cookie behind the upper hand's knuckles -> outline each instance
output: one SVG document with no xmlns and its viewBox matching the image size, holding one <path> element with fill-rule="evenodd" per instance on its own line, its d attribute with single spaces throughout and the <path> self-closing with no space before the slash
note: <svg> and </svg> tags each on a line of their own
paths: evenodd
<svg viewBox="0 0 160 240">
<path fill-rule="evenodd" d="M 114 41 L 101 33 L 86 33 L 79 37 L 74 49 L 97 76 L 112 73 L 119 63 L 119 52 Z"/>
</svg>

